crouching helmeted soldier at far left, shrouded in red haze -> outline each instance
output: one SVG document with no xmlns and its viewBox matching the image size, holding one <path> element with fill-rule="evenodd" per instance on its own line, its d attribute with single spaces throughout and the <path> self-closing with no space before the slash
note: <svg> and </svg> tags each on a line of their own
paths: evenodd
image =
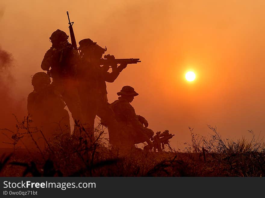
<svg viewBox="0 0 265 198">
<path fill-rule="evenodd" d="M 46 140 L 52 140 L 55 134 L 70 134 L 70 118 L 64 109 L 65 103 L 51 85 L 48 74 L 38 72 L 33 75 L 31 82 L 34 90 L 28 96 L 27 110 L 33 126 L 42 130 Z M 39 134 L 38 138 L 41 136 Z M 43 143 L 45 141 L 41 141 Z"/>
</svg>

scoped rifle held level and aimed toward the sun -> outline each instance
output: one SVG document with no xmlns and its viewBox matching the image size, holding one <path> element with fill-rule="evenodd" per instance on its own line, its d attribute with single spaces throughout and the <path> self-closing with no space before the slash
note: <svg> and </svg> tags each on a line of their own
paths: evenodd
<svg viewBox="0 0 265 198">
<path fill-rule="evenodd" d="M 98 61 L 99 65 L 108 65 L 108 66 L 115 66 L 117 64 L 136 64 L 140 58 L 115 58 L 114 55 L 104 55 L 104 58 L 101 58 Z"/>
</svg>

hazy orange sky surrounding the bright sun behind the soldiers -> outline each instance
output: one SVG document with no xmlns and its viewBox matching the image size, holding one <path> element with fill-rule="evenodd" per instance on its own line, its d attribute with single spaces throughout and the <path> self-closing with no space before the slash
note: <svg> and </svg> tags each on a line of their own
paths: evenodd
<svg viewBox="0 0 265 198">
<path fill-rule="evenodd" d="M 206 124 L 223 137 L 265 135 L 265 1 L 1 1 L 0 46 L 15 59 L 14 97 L 33 90 L 30 75 L 41 71 L 51 33 L 69 35 L 66 11 L 77 42 L 91 38 L 116 58 L 140 58 L 107 84 L 109 102 L 133 86 L 136 113 L 155 132 L 175 134 L 174 147 L 190 141 L 188 126 L 202 135 Z M 192 83 L 184 79 L 190 69 Z"/>
</svg>

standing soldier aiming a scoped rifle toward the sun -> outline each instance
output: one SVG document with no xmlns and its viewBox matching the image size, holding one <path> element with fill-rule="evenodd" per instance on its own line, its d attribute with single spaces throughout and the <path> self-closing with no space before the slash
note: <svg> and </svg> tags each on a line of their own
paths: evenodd
<svg viewBox="0 0 265 198">
<path fill-rule="evenodd" d="M 120 129 L 108 103 L 106 82 L 114 82 L 127 64 L 111 65 L 112 72 L 109 73 L 110 65 L 101 67 L 98 64 L 107 49 L 100 47 L 91 39 L 83 39 L 79 42 L 79 45 L 80 55 L 82 56 L 82 67 L 79 71 L 79 93 L 85 122 L 93 128 L 95 116 L 98 115 L 108 127 L 110 143 L 119 147 L 121 146 L 118 137 Z"/>
</svg>

